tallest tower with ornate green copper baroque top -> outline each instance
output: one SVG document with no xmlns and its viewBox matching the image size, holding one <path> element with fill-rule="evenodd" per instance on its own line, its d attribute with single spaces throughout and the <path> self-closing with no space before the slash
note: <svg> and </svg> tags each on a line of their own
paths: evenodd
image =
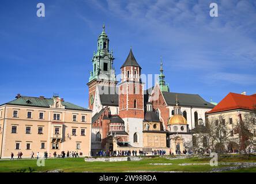
<svg viewBox="0 0 256 184">
<path fill-rule="evenodd" d="M 97 40 L 97 52 L 93 52 L 92 70 L 89 82 L 89 109 L 93 110 L 95 91 L 97 86 L 116 86 L 116 75 L 113 66 L 113 51 L 109 51 L 110 40 L 105 32 L 105 25 Z"/>
</svg>

